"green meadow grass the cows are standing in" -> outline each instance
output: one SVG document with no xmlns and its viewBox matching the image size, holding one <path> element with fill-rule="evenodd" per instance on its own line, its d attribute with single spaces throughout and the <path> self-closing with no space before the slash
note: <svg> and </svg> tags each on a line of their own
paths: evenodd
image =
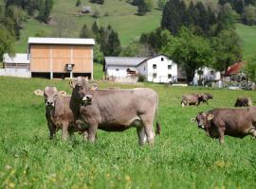
<svg viewBox="0 0 256 189">
<path fill-rule="evenodd" d="M 100 66 L 99 66 L 100 67 Z M 120 85 L 100 82 L 100 88 Z M 250 137 L 226 136 L 226 144 L 206 136 L 190 122 L 197 112 L 232 107 L 252 91 L 178 88 L 145 83 L 159 95 L 162 133 L 155 146 L 137 146 L 136 129 L 99 131 L 90 145 L 48 140 L 43 97 L 35 89 L 55 85 L 70 94 L 66 80 L 0 77 L 1 188 L 255 188 L 256 145 Z M 182 94 L 209 92 L 210 105 L 180 106 Z"/>
</svg>

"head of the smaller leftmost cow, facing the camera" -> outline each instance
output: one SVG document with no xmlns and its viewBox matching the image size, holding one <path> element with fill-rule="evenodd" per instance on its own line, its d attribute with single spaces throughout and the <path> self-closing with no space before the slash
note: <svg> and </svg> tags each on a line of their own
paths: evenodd
<svg viewBox="0 0 256 189">
<path fill-rule="evenodd" d="M 36 95 L 45 95 L 46 107 L 53 108 L 55 106 L 55 100 L 58 95 L 65 95 L 64 91 L 58 92 L 56 87 L 46 87 L 44 91 L 35 90 Z"/>
</svg>

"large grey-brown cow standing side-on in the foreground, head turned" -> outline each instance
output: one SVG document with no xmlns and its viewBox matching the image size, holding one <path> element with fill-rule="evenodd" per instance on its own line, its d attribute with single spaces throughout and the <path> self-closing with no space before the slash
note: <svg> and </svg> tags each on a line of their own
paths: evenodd
<svg viewBox="0 0 256 189">
<path fill-rule="evenodd" d="M 70 80 L 73 88 L 70 108 L 75 120 L 88 124 L 89 142 L 95 141 L 97 129 L 123 131 L 137 128 L 138 142 L 154 144 L 153 123 L 157 115 L 158 95 L 152 89 L 91 91 L 84 77 Z M 157 117 L 157 116 L 156 116 Z M 156 120 L 156 132 L 160 126 Z"/>
</svg>

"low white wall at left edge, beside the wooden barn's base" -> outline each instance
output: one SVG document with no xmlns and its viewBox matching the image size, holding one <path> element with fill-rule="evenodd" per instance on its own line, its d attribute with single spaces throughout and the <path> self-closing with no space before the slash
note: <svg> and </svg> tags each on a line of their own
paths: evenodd
<svg viewBox="0 0 256 189">
<path fill-rule="evenodd" d="M 31 72 L 26 68 L 5 68 L 0 69 L 0 76 L 4 77 L 31 77 Z"/>
</svg>

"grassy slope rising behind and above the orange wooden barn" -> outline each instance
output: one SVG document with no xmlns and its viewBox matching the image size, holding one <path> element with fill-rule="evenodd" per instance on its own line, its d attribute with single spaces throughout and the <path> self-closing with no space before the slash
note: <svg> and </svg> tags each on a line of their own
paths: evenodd
<svg viewBox="0 0 256 189">
<path fill-rule="evenodd" d="M 71 28 L 69 37 L 78 37 L 82 25 L 91 26 L 95 18 L 91 15 L 78 16 L 81 8 L 75 7 L 74 0 L 55 1 L 51 16 L 58 17 L 66 15 L 75 21 L 76 26 Z M 123 45 L 128 44 L 131 40 L 137 39 L 142 32 L 148 32 L 160 26 L 161 11 L 154 9 L 146 16 L 137 16 L 137 7 L 126 3 L 124 0 L 105 1 L 101 5 L 91 4 L 88 0 L 82 0 L 83 6 L 91 6 L 92 11 L 100 10 L 101 17 L 99 23 L 101 26 L 111 25 L 119 32 L 119 38 Z M 108 16 L 105 16 L 105 15 Z M 34 36 L 36 33 L 45 33 L 47 37 L 53 35 L 53 26 L 40 24 L 34 19 L 29 19 L 24 24 L 21 40 L 16 45 L 17 52 L 26 52 L 27 38 Z"/>
</svg>

